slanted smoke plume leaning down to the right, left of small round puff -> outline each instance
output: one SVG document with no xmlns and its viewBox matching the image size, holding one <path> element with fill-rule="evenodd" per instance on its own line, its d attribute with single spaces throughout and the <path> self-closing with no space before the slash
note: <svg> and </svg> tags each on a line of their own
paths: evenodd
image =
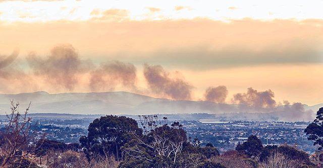
<svg viewBox="0 0 323 168">
<path fill-rule="evenodd" d="M 184 79 L 171 77 L 160 65 L 144 64 L 144 76 L 154 93 L 163 94 L 175 100 L 190 100 L 193 87 Z"/>
</svg>

